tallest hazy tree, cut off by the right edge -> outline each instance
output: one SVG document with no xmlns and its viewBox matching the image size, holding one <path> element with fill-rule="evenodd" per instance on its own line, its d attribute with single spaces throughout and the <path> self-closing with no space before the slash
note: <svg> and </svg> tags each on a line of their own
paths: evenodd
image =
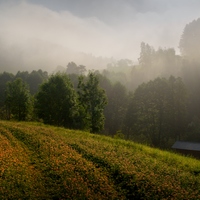
<svg viewBox="0 0 200 200">
<path fill-rule="evenodd" d="M 179 48 L 183 60 L 183 80 L 190 93 L 189 117 L 200 118 L 200 18 L 188 23 L 182 33 Z"/>
</svg>

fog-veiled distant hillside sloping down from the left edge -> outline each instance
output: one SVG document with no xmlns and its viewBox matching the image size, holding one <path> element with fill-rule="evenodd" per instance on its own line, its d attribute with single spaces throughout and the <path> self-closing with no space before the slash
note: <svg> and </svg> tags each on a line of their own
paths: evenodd
<svg viewBox="0 0 200 200">
<path fill-rule="evenodd" d="M 113 58 L 97 57 L 92 54 L 76 52 L 62 45 L 30 39 L 26 42 L 8 46 L 0 35 L 0 73 L 6 71 L 43 70 L 52 73 L 57 66 L 66 69 L 69 62 L 85 65 L 87 70 L 102 70 Z"/>
</svg>

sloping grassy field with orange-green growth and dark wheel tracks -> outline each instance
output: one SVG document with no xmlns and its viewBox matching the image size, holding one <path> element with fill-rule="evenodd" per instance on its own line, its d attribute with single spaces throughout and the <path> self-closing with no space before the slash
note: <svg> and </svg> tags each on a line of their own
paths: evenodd
<svg viewBox="0 0 200 200">
<path fill-rule="evenodd" d="M 200 161 L 81 131 L 0 121 L 0 199 L 200 199 Z"/>
</svg>

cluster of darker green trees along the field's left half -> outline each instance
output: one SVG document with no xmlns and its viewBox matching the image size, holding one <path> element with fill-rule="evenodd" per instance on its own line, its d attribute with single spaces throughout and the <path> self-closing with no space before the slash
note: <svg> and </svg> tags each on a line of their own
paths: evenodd
<svg viewBox="0 0 200 200">
<path fill-rule="evenodd" d="M 33 72 L 32 72 L 33 73 Z M 103 110 L 107 103 L 105 91 L 99 87 L 97 76 L 90 72 L 78 77 L 77 91 L 66 73 L 47 76 L 34 71 L 40 82 L 35 82 L 36 93 L 27 80 L 32 73 L 0 74 L 1 118 L 15 120 L 42 120 L 46 124 L 88 130 L 96 133 L 103 129 Z M 33 92 L 33 95 L 31 95 Z"/>
</svg>

